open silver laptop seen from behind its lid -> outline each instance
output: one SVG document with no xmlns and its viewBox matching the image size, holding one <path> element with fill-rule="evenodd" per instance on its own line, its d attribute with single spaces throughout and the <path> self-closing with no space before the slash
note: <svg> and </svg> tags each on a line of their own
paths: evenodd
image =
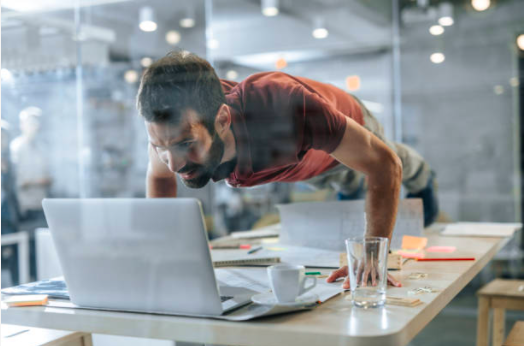
<svg viewBox="0 0 524 346">
<path fill-rule="evenodd" d="M 254 291 L 219 287 L 193 198 L 44 199 L 71 301 L 81 307 L 219 316 Z"/>
</svg>

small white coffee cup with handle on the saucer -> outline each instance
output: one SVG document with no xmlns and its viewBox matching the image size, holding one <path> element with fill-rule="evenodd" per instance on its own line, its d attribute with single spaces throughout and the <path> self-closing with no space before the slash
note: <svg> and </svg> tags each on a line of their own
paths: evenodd
<svg viewBox="0 0 524 346">
<path fill-rule="evenodd" d="M 267 268 L 269 283 L 279 303 L 293 303 L 296 298 L 317 285 L 317 278 L 306 276 L 306 268 L 299 265 L 278 264 Z M 306 287 L 310 280 L 313 284 Z"/>
</svg>

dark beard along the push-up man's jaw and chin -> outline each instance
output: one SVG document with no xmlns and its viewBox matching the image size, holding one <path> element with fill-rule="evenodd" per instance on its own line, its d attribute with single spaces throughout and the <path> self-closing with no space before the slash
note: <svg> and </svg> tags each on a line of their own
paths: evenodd
<svg viewBox="0 0 524 346">
<path fill-rule="evenodd" d="M 184 185 L 192 189 L 199 189 L 207 185 L 213 174 L 215 173 L 220 162 L 224 156 L 224 142 L 215 133 L 211 148 L 209 148 L 209 155 L 207 162 L 203 165 L 188 162 L 178 173 L 187 173 L 195 171 L 195 177 L 191 179 L 181 178 Z"/>
</svg>

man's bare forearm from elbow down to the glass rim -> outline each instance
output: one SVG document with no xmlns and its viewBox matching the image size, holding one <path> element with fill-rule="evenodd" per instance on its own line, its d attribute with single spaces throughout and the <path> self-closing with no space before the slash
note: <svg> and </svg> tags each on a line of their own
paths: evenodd
<svg viewBox="0 0 524 346">
<path fill-rule="evenodd" d="M 384 172 L 386 173 L 386 172 Z M 380 178 L 370 177 L 366 198 L 366 235 L 391 240 L 402 183 L 402 167 L 394 166 Z"/>
</svg>

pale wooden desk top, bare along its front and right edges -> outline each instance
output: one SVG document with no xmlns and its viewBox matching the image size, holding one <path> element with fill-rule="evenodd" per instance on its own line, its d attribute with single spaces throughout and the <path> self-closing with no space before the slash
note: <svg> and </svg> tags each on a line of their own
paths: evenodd
<svg viewBox="0 0 524 346">
<path fill-rule="evenodd" d="M 439 290 L 416 296 L 424 302 L 417 307 L 358 309 L 342 294 L 312 311 L 250 322 L 227 322 L 52 307 L 7 309 L 2 304 L 2 321 L 31 327 L 219 345 L 406 345 L 508 241 L 507 238 L 440 237 L 434 232 L 427 236 L 428 246 L 455 246 L 454 256 L 475 257 L 476 260 L 408 261 L 402 271 L 393 272 L 403 287 L 388 288 L 388 295 L 407 296 L 408 290 L 426 285 Z M 428 273 L 429 277 L 409 280 L 413 272 Z"/>
</svg>

